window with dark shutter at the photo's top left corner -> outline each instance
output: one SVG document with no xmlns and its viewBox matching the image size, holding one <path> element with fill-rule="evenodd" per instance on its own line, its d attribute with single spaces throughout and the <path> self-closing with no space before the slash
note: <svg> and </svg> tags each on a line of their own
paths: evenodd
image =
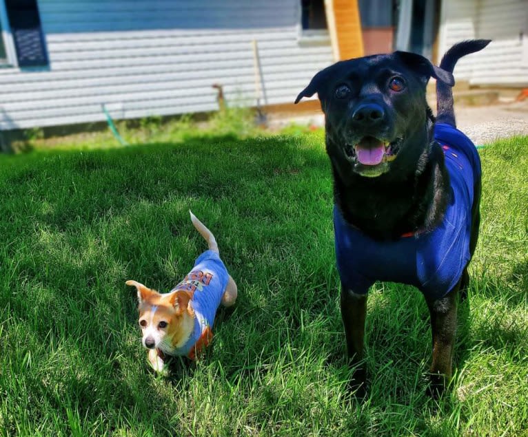
<svg viewBox="0 0 528 437">
<path fill-rule="evenodd" d="M 48 65 L 37 0 L 0 0 L 0 65 Z"/>
</svg>

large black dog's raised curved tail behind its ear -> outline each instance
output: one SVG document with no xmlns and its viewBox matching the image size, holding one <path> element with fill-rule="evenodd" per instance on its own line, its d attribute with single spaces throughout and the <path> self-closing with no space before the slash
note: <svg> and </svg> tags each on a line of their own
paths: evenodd
<svg viewBox="0 0 528 437">
<path fill-rule="evenodd" d="M 467 54 L 483 50 L 491 42 L 491 39 L 471 39 L 455 44 L 442 58 L 440 68 L 453 73 L 458 59 Z M 453 109 L 453 90 L 442 81 L 436 81 L 436 122 L 447 123 L 456 127 L 455 113 Z"/>
</svg>

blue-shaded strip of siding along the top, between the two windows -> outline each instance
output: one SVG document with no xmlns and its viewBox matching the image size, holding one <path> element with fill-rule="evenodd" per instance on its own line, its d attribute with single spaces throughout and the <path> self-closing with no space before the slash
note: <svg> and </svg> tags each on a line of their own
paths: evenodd
<svg viewBox="0 0 528 437">
<path fill-rule="evenodd" d="M 46 33 L 119 30 L 267 28 L 292 26 L 296 1 L 62 1 L 41 2 Z"/>
</svg>

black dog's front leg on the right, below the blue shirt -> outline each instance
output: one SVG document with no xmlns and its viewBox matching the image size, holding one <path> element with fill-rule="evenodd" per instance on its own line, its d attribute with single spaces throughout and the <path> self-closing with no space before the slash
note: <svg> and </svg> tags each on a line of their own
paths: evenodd
<svg viewBox="0 0 528 437">
<path fill-rule="evenodd" d="M 456 312 L 460 284 L 446 297 L 436 301 L 427 300 L 431 315 L 433 337 L 433 360 L 431 363 L 431 394 L 441 394 L 451 380 L 451 365 L 456 331 Z"/>
</svg>

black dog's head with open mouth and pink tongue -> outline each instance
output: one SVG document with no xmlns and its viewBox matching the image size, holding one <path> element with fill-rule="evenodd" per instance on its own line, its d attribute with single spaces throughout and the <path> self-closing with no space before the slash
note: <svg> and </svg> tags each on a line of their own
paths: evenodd
<svg viewBox="0 0 528 437">
<path fill-rule="evenodd" d="M 375 178 L 412 167 L 429 136 L 429 78 L 454 78 L 427 58 L 407 52 L 341 61 L 318 72 L 295 103 L 315 93 L 326 118 L 327 153 L 342 178 Z"/>
</svg>

